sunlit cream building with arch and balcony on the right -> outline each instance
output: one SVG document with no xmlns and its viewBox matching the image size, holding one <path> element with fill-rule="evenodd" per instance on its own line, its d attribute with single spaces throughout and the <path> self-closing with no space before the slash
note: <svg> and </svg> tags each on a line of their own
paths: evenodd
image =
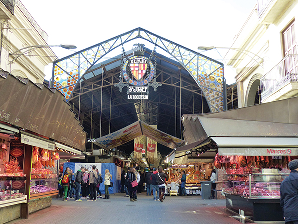
<svg viewBox="0 0 298 224">
<path fill-rule="evenodd" d="M 239 107 L 298 95 L 298 1 L 257 0 L 225 55 L 236 68 Z"/>
</svg>

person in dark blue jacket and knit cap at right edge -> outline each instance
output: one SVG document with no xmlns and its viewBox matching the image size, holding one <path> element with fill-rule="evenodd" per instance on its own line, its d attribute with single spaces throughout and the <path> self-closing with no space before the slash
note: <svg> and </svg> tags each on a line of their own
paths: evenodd
<svg viewBox="0 0 298 224">
<path fill-rule="evenodd" d="M 286 224 L 298 224 L 298 159 L 288 164 L 290 175 L 281 183 L 280 203 Z"/>
</svg>

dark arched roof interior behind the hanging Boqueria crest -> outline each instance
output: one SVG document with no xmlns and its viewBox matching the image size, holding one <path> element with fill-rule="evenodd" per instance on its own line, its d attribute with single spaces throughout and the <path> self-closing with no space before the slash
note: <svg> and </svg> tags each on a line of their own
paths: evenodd
<svg viewBox="0 0 298 224">
<path fill-rule="evenodd" d="M 145 56 L 149 58 L 151 52 L 147 49 Z M 127 55 L 132 55 L 132 51 L 128 51 Z M 183 139 L 180 117 L 183 114 L 202 113 L 202 108 L 203 113 L 210 112 L 205 98 L 201 96 L 201 89 L 190 74 L 179 62 L 158 53 L 156 80 L 162 86 L 156 92 L 150 86 L 148 100 L 128 100 L 127 88 L 124 87 L 120 92 L 114 86 L 119 82 L 120 61 L 121 55 L 94 65 L 70 98 L 69 104 L 79 114 L 89 139 L 117 131 L 138 119 L 150 125 L 155 124 L 159 130 Z M 93 136 L 91 129 L 94 129 Z M 132 141 L 117 149 L 129 155 L 133 146 Z M 91 143 L 87 143 L 87 151 L 91 147 Z M 93 148 L 97 146 L 93 145 Z M 164 156 L 172 149 L 158 144 L 158 151 Z"/>
</svg>

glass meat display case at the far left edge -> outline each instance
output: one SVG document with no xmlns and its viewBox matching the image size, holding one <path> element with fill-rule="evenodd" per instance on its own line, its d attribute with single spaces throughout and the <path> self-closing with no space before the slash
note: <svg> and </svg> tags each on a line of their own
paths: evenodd
<svg viewBox="0 0 298 224">
<path fill-rule="evenodd" d="M 0 177 L 0 202 L 4 200 L 25 198 L 26 177 L 1 176 Z"/>
</svg>

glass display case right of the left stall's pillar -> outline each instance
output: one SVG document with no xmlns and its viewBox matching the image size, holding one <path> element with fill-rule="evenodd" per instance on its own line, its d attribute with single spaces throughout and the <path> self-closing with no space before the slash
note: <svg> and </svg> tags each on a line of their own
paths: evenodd
<svg viewBox="0 0 298 224">
<path fill-rule="evenodd" d="M 31 176 L 30 194 L 56 191 L 57 186 L 57 174 L 34 174 Z"/>
</svg>

